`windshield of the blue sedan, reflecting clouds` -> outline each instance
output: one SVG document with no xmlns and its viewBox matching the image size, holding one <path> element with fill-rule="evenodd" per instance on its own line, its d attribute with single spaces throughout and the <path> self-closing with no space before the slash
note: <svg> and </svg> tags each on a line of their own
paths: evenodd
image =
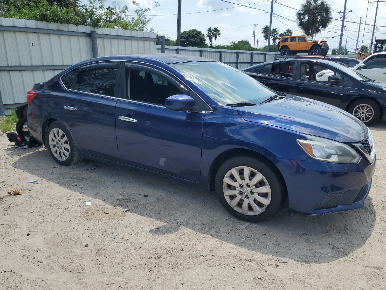
<svg viewBox="0 0 386 290">
<path fill-rule="evenodd" d="M 277 94 L 225 63 L 197 61 L 173 63 L 171 66 L 223 105 L 240 102 L 260 104 Z"/>
</svg>

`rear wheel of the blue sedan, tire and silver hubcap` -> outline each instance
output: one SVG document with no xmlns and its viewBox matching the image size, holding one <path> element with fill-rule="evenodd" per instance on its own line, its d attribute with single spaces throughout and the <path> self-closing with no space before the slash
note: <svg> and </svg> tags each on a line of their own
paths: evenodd
<svg viewBox="0 0 386 290">
<path fill-rule="evenodd" d="M 60 165 L 69 166 L 83 160 L 83 158 L 78 155 L 78 150 L 76 149 L 71 134 L 66 126 L 59 121 L 52 122 L 51 125 L 48 126 L 46 145 L 51 157 Z"/>
</svg>

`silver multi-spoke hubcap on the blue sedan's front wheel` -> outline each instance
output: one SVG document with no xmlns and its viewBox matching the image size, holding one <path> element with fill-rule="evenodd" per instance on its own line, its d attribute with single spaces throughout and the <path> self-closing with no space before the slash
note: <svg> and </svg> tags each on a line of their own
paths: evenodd
<svg viewBox="0 0 386 290">
<path fill-rule="evenodd" d="M 259 215 L 271 203 L 271 188 L 267 179 L 247 166 L 234 167 L 225 174 L 223 191 L 229 205 L 244 215 Z"/>
</svg>

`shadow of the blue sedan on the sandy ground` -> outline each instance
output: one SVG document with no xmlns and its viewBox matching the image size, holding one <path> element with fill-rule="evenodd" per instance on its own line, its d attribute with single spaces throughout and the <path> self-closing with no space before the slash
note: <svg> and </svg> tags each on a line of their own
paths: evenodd
<svg viewBox="0 0 386 290">
<path fill-rule="evenodd" d="M 165 223 L 149 230 L 155 238 L 186 227 L 262 254 L 303 263 L 326 263 L 361 248 L 375 225 L 375 210 L 369 196 L 364 208 L 358 210 L 306 216 L 284 208 L 266 222 L 239 230 L 245 222 L 226 212 L 213 192 L 91 160 L 76 169 L 54 168 L 57 164 L 47 148 L 4 150 L 11 158 L 25 154 L 12 163 L 14 168 L 56 183 L 74 194 L 82 193 L 90 200 L 130 208 L 130 213 Z M 87 169 L 95 164 L 96 169 Z M 49 190 L 52 189 L 47 186 Z M 145 194 L 148 196 L 144 197 Z"/>
</svg>

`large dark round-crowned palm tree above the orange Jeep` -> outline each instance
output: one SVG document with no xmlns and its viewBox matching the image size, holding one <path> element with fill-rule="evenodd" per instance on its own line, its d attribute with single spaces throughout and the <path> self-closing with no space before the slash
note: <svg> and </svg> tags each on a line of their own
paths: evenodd
<svg viewBox="0 0 386 290">
<path fill-rule="evenodd" d="M 314 36 L 331 22 L 331 7 L 325 0 L 305 0 L 296 12 L 298 26 L 305 35 Z"/>
</svg>

